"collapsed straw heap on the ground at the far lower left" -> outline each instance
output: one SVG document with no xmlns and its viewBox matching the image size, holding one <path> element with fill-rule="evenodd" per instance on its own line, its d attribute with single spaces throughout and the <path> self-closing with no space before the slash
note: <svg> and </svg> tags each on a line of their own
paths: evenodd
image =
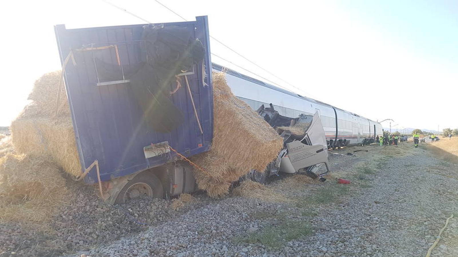
<svg viewBox="0 0 458 257">
<path fill-rule="evenodd" d="M 0 158 L 0 220 L 44 224 L 65 203 L 65 179 L 49 158 Z"/>
</svg>

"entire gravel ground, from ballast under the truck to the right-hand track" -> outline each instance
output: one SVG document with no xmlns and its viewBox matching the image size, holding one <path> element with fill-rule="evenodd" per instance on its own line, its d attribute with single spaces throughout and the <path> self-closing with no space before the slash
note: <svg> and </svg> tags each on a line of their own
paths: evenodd
<svg viewBox="0 0 458 257">
<path fill-rule="evenodd" d="M 0 255 L 425 256 L 458 216 L 458 165 L 411 144 L 338 153 L 324 183 L 286 176 L 264 195 L 195 195 L 180 211 L 157 199 L 108 206 L 69 185 L 79 197 L 54 217 L 55 233 L 2 224 Z M 286 200 L 271 201 L 272 192 Z M 458 217 L 432 256 L 458 256 Z"/>
</svg>

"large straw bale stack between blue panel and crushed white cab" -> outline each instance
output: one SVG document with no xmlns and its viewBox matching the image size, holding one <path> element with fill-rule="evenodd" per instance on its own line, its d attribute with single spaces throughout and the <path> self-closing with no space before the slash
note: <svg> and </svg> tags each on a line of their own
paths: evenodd
<svg viewBox="0 0 458 257">
<path fill-rule="evenodd" d="M 231 182 L 255 169 L 264 171 L 283 148 L 283 139 L 242 100 L 232 94 L 224 73 L 213 73 L 213 143 L 193 160 L 197 185 L 211 197 L 229 193 Z"/>
</svg>

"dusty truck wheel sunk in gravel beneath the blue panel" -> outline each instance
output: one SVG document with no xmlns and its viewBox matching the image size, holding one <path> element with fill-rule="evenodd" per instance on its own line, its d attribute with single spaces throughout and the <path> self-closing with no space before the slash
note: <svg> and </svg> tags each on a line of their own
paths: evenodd
<svg viewBox="0 0 458 257">
<path fill-rule="evenodd" d="M 144 171 L 127 182 L 119 192 L 114 204 L 127 203 L 141 196 L 149 196 L 151 198 L 164 197 L 164 187 L 162 187 L 162 183 L 159 178 L 151 172 Z"/>
</svg>

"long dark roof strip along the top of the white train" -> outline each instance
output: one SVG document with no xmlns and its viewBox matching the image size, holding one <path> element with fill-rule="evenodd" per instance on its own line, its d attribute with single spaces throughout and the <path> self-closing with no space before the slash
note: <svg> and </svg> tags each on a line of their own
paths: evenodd
<svg viewBox="0 0 458 257">
<path fill-rule="evenodd" d="M 225 71 L 227 74 L 230 74 L 230 75 L 239 77 L 239 78 L 244 79 L 244 80 L 251 81 L 251 82 L 256 83 L 256 84 L 258 84 L 258 85 L 260 85 L 260 86 L 265 86 L 265 87 L 268 87 L 268 88 L 270 88 L 270 89 L 273 89 L 273 90 L 282 92 L 282 93 L 284 93 L 284 94 L 287 94 L 287 95 L 290 95 L 290 96 L 294 96 L 294 97 L 297 97 L 297 98 L 300 98 L 300 99 L 303 99 L 303 100 L 306 100 L 306 101 L 309 101 L 309 102 L 314 102 L 314 103 L 317 103 L 317 104 L 321 104 L 321 105 L 324 105 L 324 106 L 327 106 L 327 107 L 330 107 L 330 108 L 333 108 L 333 107 L 334 107 L 334 108 L 336 108 L 336 109 L 338 109 L 338 110 L 340 110 L 340 111 L 342 111 L 342 112 L 347 112 L 347 113 L 349 113 L 349 114 L 351 114 L 351 115 L 354 115 L 354 116 L 357 116 L 357 117 L 361 117 L 361 118 L 365 118 L 365 117 L 362 117 L 362 116 L 360 116 L 360 115 L 358 115 L 358 114 L 355 114 L 355 113 L 353 113 L 353 112 L 345 111 L 344 109 L 341 109 L 341 108 L 332 106 L 332 105 L 327 104 L 327 103 L 325 103 L 325 102 L 321 102 L 321 101 L 318 101 L 318 100 L 315 100 L 315 99 L 312 99 L 312 98 L 309 98 L 309 97 L 306 97 L 306 96 L 301 96 L 301 95 L 299 95 L 299 94 L 296 94 L 296 93 L 294 93 L 294 92 L 288 91 L 288 90 L 283 89 L 283 88 L 280 88 L 280 87 L 278 87 L 278 86 L 273 86 L 273 85 L 267 84 L 267 83 L 265 83 L 265 82 L 263 82 L 263 81 L 261 81 L 261 80 L 256 80 L 255 78 L 252 78 L 252 77 L 250 77 L 250 76 L 241 74 L 240 72 L 237 72 L 237 71 L 235 71 L 235 70 L 231 70 L 231 69 L 229 69 L 229 68 L 227 68 L 227 67 L 224 67 L 224 66 L 222 66 L 222 65 L 219 65 L 219 64 L 212 63 L 212 68 L 215 69 L 215 70 L 219 70 L 219 71 L 223 71 L 223 69 L 224 69 L 224 71 Z M 366 119 L 367 119 L 367 118 L 366 118 Z M 374 122 L 374 123 L 377 123 L 376 121 L 373 121 L 373 120 L 371 120 L 371 119 L 368 119 L 368 120 L 370 120 L 370 121 L 372 121 L 372 122 Z"/>
</svg>

